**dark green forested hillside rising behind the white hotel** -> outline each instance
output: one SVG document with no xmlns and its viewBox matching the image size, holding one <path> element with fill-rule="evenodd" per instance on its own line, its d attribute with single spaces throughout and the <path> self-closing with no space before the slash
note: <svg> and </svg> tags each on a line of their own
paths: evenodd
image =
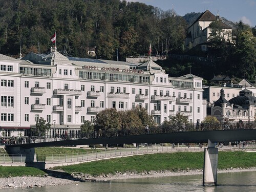
<svg viewBox="0 0 256 192">
<path fill-rule="evenodd" d="M 118 59 L 125 60 L 127 56 L 147 56 L 151 44 L 153 55 L 168 56 L 158 64 L 170 76 L 191 70 L 206 80 L 228 75 L 254 81 L 256 27 L 222 18 L 233 27 L 232 41 L 224 41 L 218 23 L 214 23 L 209 49 L 202 52 L 199 47 L 184 46 L 187 27 L 200 14 L 180 16 L 175 10 L 120 0 L 0 0 L 0 53 L 15 56 L 21 46 L 23 56 L 29 52 L 46 54 L 56 31 L 58 51 L 69 56 L 89 57 L 86 50 L 95 47 L 98 59 L 116 60 L 118 53 Z M 174 54 L 214 59 L 177 60 Z"/>
</svg>

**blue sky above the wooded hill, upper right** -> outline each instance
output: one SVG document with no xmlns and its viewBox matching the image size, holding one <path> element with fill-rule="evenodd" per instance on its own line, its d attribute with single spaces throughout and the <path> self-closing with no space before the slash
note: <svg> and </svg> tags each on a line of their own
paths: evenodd
<svg viewBox="0 0 256 192">
<path fill-rule="evenodd" d="M 207 9 L 214 15 L 219 11 L 220 17 L 231 22 L 256 26 L 256 0 L 126 0 L 126 2 L 140 2 L 159 7 L 166 11 L 174 6 L 175 12 L 184 16 L 191 12 L 204 12 Z"/>
</svg>

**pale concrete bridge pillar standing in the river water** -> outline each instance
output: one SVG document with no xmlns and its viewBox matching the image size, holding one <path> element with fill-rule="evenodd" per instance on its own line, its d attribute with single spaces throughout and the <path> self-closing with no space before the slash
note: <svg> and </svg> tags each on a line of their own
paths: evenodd
<svg viewBox="0 0 256 192">
<path fill-rule="evenodd" d="M 218 148 L 208 140 L 208 147 L 204 149 L 203 186 L 217 185 Z"/>
</svg>

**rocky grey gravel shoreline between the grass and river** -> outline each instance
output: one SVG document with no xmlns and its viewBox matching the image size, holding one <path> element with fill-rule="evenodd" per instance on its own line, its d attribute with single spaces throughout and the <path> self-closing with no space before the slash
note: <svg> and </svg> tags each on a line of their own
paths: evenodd
<svg viewBox="0 0 256 192">
<path fill-rule="evenodd" d="M 230 172 L 249 172 L 256 171 L 256 167 L 249 168 L 227 168 L 218 170 L 218 173 L 230 173 Z M 66 185 L 74 184 L 77 185 L 80 182 L 84 181 L 95 181 L 95 182 L 109 182 L 111 180 L 118 179 L 132 179 L 132 178 L 146 178 L 146 177 L 170 177 L 170 176 L 180 176 L 180 175 L 200 175 L 203 174 L 202 169 L 186 169 L 180 170 L 177 172 L 170 172 L 169 170 L 152 170 L 150 172 L 137 173 L 135 171 L 129 171 L 125 173 L 116 172 L 116 174 L 106 174 L 93 177 L 89 174 L 83 173 L 74 173 L 67 176 L 63 172 L 55 172 L 54 176 L 52 174 L 46 174 L 45 176 L 38 177 L 9 177 L 9 178 L 0 178 L 0 191 L 5 188 L 34 188 L 42 186 L 57 186 L 57 185 Z"/>
</svg>

